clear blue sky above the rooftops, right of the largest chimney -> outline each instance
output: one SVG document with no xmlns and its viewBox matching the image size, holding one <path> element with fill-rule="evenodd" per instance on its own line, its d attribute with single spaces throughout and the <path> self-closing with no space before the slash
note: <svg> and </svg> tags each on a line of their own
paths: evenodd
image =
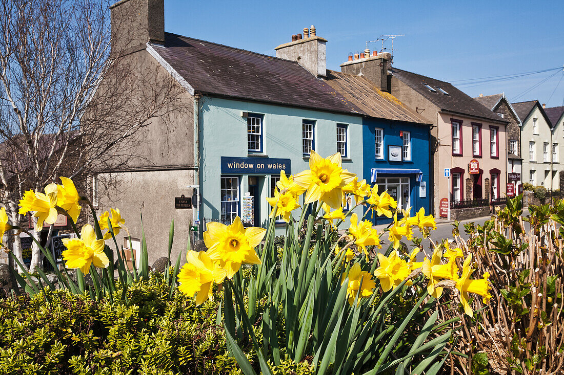
<svg viewBox="0 0 564 375">
<path fill-rule="evenodd" d="M 406 34 L 394 41 L 394 66 L 455 84 L 562 67 L 563 16 L 564 1 L 557 0 L 165 0 L 166 31 L 267 55 L 315 25 L 317 35 L 328 40 L 327 68 L 333 70 L 340 70 L 349 52 L 362 52 L 366 41 Z M 371 50 L 381 46 L 369 44 Z M 458 82 L 457 87 L 471 96 L 505 92 L 513 102 L 537 99 L 559 106 L 564 105 L 563 77 L 559 69 L 502 82 Z"/>
</svg>

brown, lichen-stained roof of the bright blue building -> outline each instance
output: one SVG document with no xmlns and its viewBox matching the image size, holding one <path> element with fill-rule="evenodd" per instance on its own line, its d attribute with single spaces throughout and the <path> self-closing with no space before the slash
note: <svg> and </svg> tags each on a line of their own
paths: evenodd
<svg viewBox="0 0 564 375">
<path fill-rule="evenodd" d="M 430 124 L 416 111 L 407 108 L 393 95 L 381 91 L 364 77 L 327 70 L 325 81 L 365 115 L 389 120 Z"/>
</svg>

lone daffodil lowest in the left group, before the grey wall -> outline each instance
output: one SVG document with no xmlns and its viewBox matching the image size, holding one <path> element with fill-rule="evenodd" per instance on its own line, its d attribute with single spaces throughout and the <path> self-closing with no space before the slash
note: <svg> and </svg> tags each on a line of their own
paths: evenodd
<svg viewBox="0 0 564 375">
<path fill-rule="evenodd" d="M 90 224 L 82 227 L 80 239 L 63 238 L 63 259 L 68 268 L 79 268 L 83 274 L 90 271 L 90 265 L 106 268 L 109 265 L 108 257 L 104 253 L 104 240 L 96 239 L 94 228 Z"/>
</svg>

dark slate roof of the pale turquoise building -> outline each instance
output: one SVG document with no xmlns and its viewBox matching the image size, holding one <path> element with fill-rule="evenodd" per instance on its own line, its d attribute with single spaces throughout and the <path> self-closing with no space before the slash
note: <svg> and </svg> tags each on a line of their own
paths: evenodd
<svg viewBox="0 0 564 375">
<path fill-rule="evenodd" d="M 204 95 L 340 113 L 362 112 L 294 61 L 171 33 L 165 33 L 164 46 L 152 47 Z"/>
</svg>

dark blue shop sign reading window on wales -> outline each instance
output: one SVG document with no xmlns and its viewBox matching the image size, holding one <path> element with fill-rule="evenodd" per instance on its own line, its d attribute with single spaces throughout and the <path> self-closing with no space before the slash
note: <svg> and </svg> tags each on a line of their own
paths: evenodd
<svg viewBox="0 0 564 375">
<path fill-rule="evenodd" d="M 221 173 L 235 175 L 280 175 L 290 171 L 290 159 L 221 157 Z"/>
</svg>

